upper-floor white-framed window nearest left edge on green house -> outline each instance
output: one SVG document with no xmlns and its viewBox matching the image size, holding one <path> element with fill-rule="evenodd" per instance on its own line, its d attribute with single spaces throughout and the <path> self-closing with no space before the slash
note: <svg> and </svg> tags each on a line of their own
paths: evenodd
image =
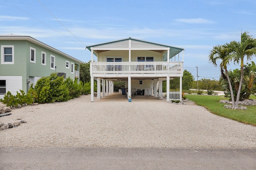
<svg viewBox="0 0 256 170">
<path fill-rule="evenodd" d="M 1 45 L 1 64 L 14 64 L 14 45 Z"/>
</svg>

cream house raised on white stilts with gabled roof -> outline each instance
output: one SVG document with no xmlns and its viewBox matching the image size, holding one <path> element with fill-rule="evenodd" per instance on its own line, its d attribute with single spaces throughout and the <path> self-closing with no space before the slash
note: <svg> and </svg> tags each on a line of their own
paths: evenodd
<svg viewBox="0 0 256 170">
<path fill-rule="evenodd" d="M 97 80 L 97 98 L 114 91 L 114 81 L 126 82 L 127 98 L 132 95 L 154 95 L 162 98 L 162 82 L 170 86 L 170 79 L 179 77 L 182 84 L 183 48 L 134 38 L 89 45 L 91 51 L 91 94 L 93 80 Z M 181 53 L 181 55 L 180 55 Z M 96 61 L 94 61 L 94 55 Z M 101 84 L 103 86 L 101 90 Z M 182 86 L 177 91 L 166 88 L 166 101 L 181 100 Z M 93 102 L 91 95 L 91 102 Z"/>
</svg>

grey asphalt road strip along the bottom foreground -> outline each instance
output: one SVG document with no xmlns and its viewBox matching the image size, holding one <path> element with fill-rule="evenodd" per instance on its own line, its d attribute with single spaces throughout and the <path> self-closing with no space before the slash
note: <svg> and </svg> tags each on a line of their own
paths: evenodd
<svg viewBox="0 0 256 170">
<path fill-rule="evenodd" d="M 256 169 L 256 149 L 0 148 L 1 170 Z"/>
</svg>

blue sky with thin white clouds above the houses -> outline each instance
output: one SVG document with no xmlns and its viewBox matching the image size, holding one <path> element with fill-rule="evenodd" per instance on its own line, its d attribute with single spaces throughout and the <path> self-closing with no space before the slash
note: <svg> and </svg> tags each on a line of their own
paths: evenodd
<svg viewBox="0 0 256 170">
<path fill-rule="evenodd" d="M 209 51 L 244 31 L 256 37 L 255 9 L 255 0 L 1 0 L 0 34 L 29 35 L 84 62 L 86 45 L 127 37 L 182 47 L 195 79 L 196 66 L 198 79 L 218 79 Z"/>
</svg>

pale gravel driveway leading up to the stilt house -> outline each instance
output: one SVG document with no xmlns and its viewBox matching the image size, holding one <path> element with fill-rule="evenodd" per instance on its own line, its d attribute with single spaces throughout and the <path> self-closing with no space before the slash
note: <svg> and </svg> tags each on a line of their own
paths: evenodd
<svg viewBox="0 0 256 170">
<path fill-rule="evenodd" d="M 0 131 L 0 147 L 256 148 L 256 127 L 192 102 L 182 106 L 153 97 L 132 102 L 108 97 L 13 109 L 0 121 L 27 123 Z"/>
</svg>

